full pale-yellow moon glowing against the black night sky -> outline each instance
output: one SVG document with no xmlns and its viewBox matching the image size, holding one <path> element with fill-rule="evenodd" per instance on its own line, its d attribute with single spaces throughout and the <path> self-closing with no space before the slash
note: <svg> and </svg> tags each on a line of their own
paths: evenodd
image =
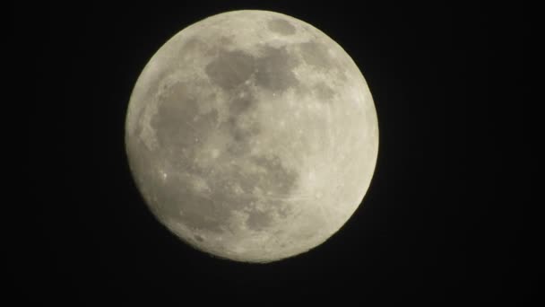
<svg viewBox="0 0 545 307">
<path fill-rule="evenodd" d="M 212 256 L 271 262 L 322 244 L 359 207 L 376 167 L 376 108 L 324 32 L 282 13 L 220 13 L 143 68 L 125 148 L 170 232 Z"/>
</svg>

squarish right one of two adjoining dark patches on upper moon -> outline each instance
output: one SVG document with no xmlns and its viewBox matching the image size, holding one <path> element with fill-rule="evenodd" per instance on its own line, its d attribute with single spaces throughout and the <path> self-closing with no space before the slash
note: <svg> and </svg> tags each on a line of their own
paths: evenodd
<svg viewBox="0 0 545 307">
<path fill-rule="evenodd" d="M 255 65 L 255 84 L 258 86 L 272 92 L 283 92 L 298 85 L 298 79 L 293 74 L 293 68 L 298 66 L 297 58 L 290 56 L 285 47 L 265 46 L 263 57 L 258 57 Z"/>
</svg>

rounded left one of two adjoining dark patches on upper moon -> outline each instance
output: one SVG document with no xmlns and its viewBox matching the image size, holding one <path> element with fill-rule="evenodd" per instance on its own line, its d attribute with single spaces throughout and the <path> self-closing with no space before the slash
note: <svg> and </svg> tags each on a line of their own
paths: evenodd
<svg viewBox="0 0 545 307">
<path fill-rule="evenodd" d="M 255 71 L 255 58 L 240 50 L 220 49 L 204 68 L 212 83 L 229 91 L 247 81 Z"/>
</svg>

